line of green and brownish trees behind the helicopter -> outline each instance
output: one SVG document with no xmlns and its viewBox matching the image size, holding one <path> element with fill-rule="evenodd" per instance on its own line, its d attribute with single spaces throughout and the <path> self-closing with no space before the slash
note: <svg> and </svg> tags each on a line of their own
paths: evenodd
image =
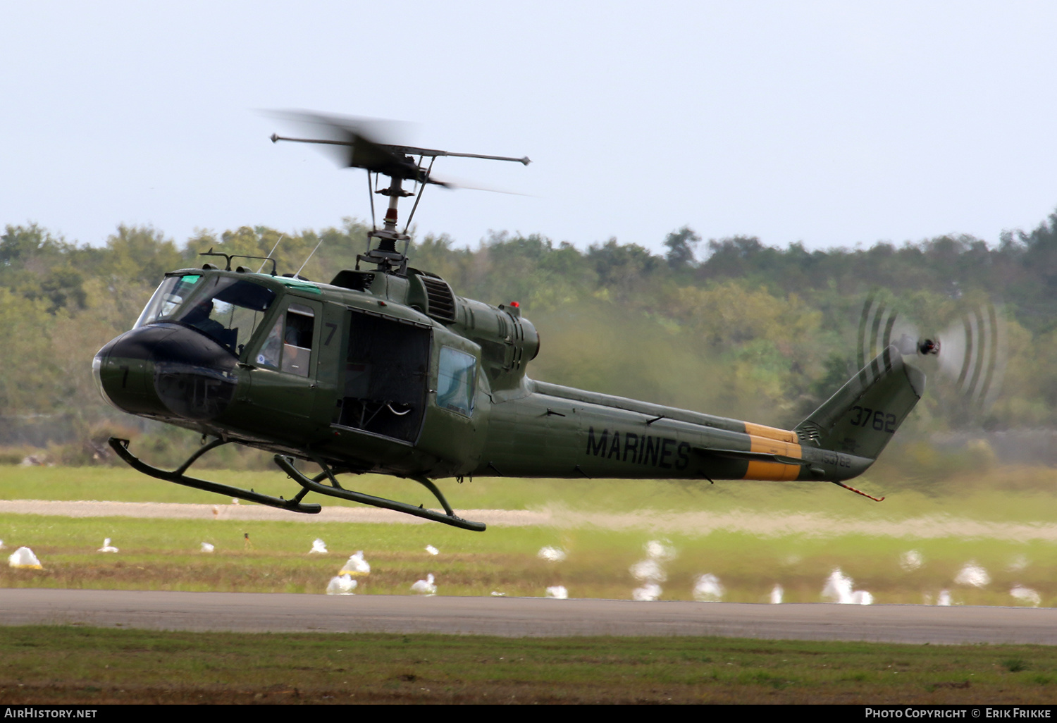
<svg viewBox="0 0 1057 723">
<path fill-rule="evenodd" d="M 59 437 L 122 423 L 94 388 L 91 359 L 131 327 L 165 272 L 216 261 L 199 256 L 212 248 L 271 254 L 279 273 L 303 264 L 303 276 L 326 282 L 354 266 L 368 230 L 347 219 L 318 231 L 203 230 L 178 244 L 151 227 L 119 226 L 88 245 L 6 226 L 0 445 L 41 443 L 19 437 L 41 420 L 56 421 Z M 663 248 L 609 239 L 580 249 L 504 231 L 472 248 L 415 238 L 408 255 L 460 296 L 519 301 L 542 337 L 535 378 L 786 426 L 854 371 L 868 296 L 933 334 L 975 304 L 1001 302 L 1007 363 L 994 406 L 972 408 L 952 381 L 930 374 L 909 433 L 1057 426 L 1057 212 L 995 244 L 943 236 L 808 251 L 747 236 L 704 241 L 684 226 Z"/>
</svg>

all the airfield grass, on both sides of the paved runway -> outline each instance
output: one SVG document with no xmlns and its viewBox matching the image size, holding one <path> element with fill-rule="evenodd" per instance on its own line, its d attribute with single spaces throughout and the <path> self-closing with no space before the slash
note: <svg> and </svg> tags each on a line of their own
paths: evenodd
<svg viewBox="0 0 1057 723">
<path fill-rule="evenodd" d="M 290 494 L 280 474 L 209 470 L 203 477 Z M 1025 604 L 1031 588 L 1057 604 L 1057 503 L 1049 469 L 997 469 L 942 483 L 858 486 L 769 483 L 474 480 L 443 486 L 457 508 L 567 509 L 641 523 L 625 526 L 62 518 L 0 514 L 5 552 L 27 545 L 42 570 L 0 568 L 0 588 L 150 589 L 322 593 L 348 556 L 371 574 L 357 594 L 411 594 L 435 575 L 439 594 L 539 596 L 563 585 L 573 597 L 628 598 L 631 567 L 661 539 L 661 599 L 690 599 L 716 575 L 723 599 L 821 599 L 834 568 L 875 602 Z M 413 501 L 415 485 L 378 478 L 357 487 Z M 404 492 L 401 492 L 404 490 Z M 225 503 L 124 468 L 0 467 L 0 497 Z M 740 515 L 759 530 L 685 525 L 669 513 Z M 782 520 L 811 514 L 813 526 Z M 304 518 L 299 518 L 302 520 Z M 820 520 L 820 521 L 819 521 Z M 827 522 L 829 521 L 829 523 Z M 856 525 L 864 531 L 856 532 Z M 972 535 L 961 529 L 973 530 Z M 981 532 L 982 531 L 982 532 Z M 991 531 L 991 532 L 988 532 Z M 1012 532 L 1010 532 L 1012 531 Z M 248 543 L 245 535 L 249 535 Z M 116 554 L 96 550 L 110 537 Z M 311 554 L 315 538 L 330 550 Z M 216 545 L 201 552 L 201 543 Z M 440 550 L 435 556 L 427 544 Z M 567 558 L 548 562 L 544 545 Z M 909 564 L 913 551 L 920 563 Z M 973 562 L 989 580 L 959 585 Z M 1030 602 L 1027 602 L 1030 604 Z M 716 638 L 490 638 L 440 635 L 292 635 L 5 628 L 0 703 L 1039 703 L 1057 696 L 1057 649 L 908 646 Z"/>
</svg>

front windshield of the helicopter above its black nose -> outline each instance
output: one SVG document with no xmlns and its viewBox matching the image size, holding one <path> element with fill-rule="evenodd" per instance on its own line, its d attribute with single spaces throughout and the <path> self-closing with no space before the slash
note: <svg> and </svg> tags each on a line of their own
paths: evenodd
<svg viewBox="0 0 1057 723">
<path fill-rule="evenodd" d="M 185 303 L 192 293 L 193 298 Z M 154 292 L 136 326 L 179 321 L 207 334 L 238 356 L 274 300 L 274 291 L 253 281 L 225 276 L 174 276 Z"/>
</svg>

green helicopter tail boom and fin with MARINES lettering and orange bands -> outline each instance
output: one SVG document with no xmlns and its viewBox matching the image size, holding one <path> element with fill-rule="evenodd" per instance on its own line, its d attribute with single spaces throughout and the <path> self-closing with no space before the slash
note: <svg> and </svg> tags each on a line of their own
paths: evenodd
<svg viewBox="0 0 1057 723">
<path fill-rule="evenodd" d="M 840 482 L 873 464 L 924 382 L 890 347 L 792 430 L 531 382 L 490 407 L 472 474 Z"/>
</svg>

